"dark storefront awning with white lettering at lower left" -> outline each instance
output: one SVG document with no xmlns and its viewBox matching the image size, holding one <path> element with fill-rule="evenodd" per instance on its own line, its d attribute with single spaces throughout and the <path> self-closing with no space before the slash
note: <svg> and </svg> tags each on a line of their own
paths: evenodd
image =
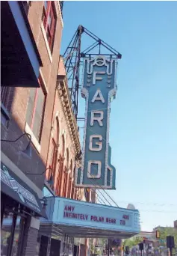
<svg viewBox="0 0 177 256">
<path fill-rule="evenodd" d="M 3 162 L 1 162 L 1 192 L 13 198 L 19 204 L 33 210 L 37 216 L 47 218 L 37 193 L 14 174 L 10 168 L 7 168 Z"/>
</svg>

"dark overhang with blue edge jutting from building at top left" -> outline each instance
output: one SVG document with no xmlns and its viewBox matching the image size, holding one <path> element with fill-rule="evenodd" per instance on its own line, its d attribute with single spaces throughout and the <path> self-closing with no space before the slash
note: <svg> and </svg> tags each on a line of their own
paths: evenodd
<svg viewBox="0 0 177 256">
<path fill-rule="evenodd" d="M 23 1 L 1 2 L 1 85 L 40 87 L 42 61 Z"/>
</svg>

